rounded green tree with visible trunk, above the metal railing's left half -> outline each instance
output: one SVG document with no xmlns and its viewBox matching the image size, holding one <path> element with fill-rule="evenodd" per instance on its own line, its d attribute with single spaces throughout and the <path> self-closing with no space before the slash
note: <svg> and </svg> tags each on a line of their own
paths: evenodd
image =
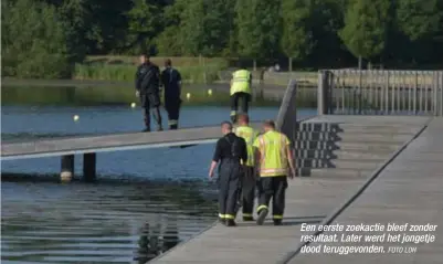
<svg viewBox="0 0 443 264">
<path fill-rule="evenodd" d="M 345 28 L 339 35 L 357 57 L 372 60 L 386 46 L 390 0 L 356 0 L 345 17 Z M 361 60 L 360 60 L 361 66 Z"/>
</svg>

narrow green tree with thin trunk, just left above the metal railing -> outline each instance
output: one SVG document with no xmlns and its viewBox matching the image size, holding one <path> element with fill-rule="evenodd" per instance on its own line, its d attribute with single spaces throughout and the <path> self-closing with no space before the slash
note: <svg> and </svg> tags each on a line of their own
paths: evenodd
<svg viewBox="0 0 443 264">
<path fill-rule="evenodd" d="M 282 50 L 289 59 L 292 71 L 293 59 L 298 62 L 310 54 L 315 41 L 313 38 L 313 6 L 312 0 L 283 0 L 282 1 Z"/>
</svg>

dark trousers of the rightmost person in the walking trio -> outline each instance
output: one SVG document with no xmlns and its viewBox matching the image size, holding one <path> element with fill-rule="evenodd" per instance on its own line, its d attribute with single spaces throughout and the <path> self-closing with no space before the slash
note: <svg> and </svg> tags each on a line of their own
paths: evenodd
<svg viewBox="0 0 443 264">
<path fill-rule="evenodd" d="M 267 209 L 272 198 L 272 214 L 274 220 L 282 220 L 285 211 L 285 193 L 287 188 L 286 176 L 261 177 L 261 193 L 257 212 Z"/>
</svg>

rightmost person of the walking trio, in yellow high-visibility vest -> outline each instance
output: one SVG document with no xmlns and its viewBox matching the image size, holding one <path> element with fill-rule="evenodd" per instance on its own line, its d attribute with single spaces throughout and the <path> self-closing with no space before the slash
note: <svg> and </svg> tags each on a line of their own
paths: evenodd
<svg viewBox="0 0 443 264">
<path fill-rule="evenodd" d="M 256 223 L 263 224 L 272 198 L 274 224 L 279 225 L 285 210 L 287 177 L 295 177 L 295 166 L 291 142 L 286 135 L 275 130 L 273 120 L 266 120 L 263 127 L 265 133 L 254 141 L 254 147 L 257 148 L 255 158 L 261 184 Z"/>
</svg>

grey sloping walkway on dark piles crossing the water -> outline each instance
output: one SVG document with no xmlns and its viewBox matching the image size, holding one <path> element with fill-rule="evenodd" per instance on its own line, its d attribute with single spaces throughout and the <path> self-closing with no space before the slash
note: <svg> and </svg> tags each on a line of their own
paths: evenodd
<svg viewBox="0 0 443 264">
<path fill-rule="evenodd" d="M 260 126 L 259 123 L 253 124 Z M 73 137 L 1 145 L 1 159 L 25 159 L 103 152 L 144 148 L 159 148 L 215 142 L 221 136 L 220 126 L 179 130 L 127 133 L 92 137 Z"/>
</svg>

